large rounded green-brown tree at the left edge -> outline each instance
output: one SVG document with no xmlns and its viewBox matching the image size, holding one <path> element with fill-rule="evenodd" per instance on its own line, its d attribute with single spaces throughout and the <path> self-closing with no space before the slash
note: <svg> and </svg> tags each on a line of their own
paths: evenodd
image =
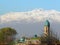
<svg viewBox="0 0 60 45">
<path fill-rule="evenodd" d="M 16 30 L 10 27 L 0 29 L 0 43 L 11 43 L 17 34 Z M 1 44 L 0 44 L 1 45 Z"/>
</svg>

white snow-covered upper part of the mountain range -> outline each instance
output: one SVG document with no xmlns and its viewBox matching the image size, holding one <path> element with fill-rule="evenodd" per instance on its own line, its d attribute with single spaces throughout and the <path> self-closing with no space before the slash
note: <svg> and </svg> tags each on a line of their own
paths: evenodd
<svg viewBox="0 0 60 45">
<path fill-rule="evenodd" d="M 45 19 L 60 22 L 60 12 L 56 10 L 35 9 L 27 12 L 7 13 L 0 17 L 2 23 L 11 21 L 40 22 Z"/>
</svg>

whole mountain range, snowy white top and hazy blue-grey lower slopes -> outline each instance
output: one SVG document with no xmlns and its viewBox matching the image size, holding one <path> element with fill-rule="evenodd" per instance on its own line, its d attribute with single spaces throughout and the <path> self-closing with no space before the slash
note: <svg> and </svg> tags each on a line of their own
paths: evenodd
<svg viewBox="0 0 60 45">
<path fill-rule="evenodd" d="M 51 24 L 51 30 L 59 36 L 60 12 L 56 10 L 34 9 L 27 12 L 10 12 L 0 15 L 0 28 L 15 28 L 19 35 L 42 34 L 46 20 Z"/>
</svg>

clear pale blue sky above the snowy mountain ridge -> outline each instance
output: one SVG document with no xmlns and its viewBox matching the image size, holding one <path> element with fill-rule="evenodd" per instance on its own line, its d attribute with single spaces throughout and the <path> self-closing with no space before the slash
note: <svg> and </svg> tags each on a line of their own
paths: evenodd
<svg viewBox="0 0 60 45">
<path fill-rule="evenodd" d="M 0 0 L 0 15 L 28 11 L 35 8 L 60 11 L 60 0 Z"/>
</svg>

